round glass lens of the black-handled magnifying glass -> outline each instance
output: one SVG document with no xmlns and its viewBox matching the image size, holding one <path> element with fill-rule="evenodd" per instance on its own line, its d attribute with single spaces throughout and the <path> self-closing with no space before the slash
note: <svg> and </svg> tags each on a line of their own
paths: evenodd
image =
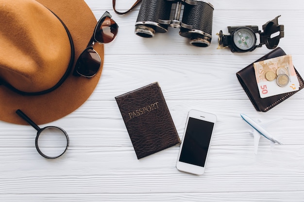
<svg viewBox="0 0 304 202">
<path fill-rule="evenodd" d="M 37 146 L 41 153 L 49 157 L 62 155 L 68 144 L 68 139 L 63 130 L 58 127 L 49 126 L 43 128 L 37 140 Z"/>
</svg>

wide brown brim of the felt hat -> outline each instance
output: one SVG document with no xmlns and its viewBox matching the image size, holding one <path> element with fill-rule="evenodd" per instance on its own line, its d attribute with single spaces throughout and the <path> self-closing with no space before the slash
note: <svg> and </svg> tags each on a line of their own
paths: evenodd
<svg viewBox="0 0 304 202">
<path fill-rule="evenodd" d="M 75 47 L 74 64 L 89 42 L 97 20 L 84 0 L 36 0 L 55 13 L 68 27 Z M 25 96 L 0 86 L 0 120 L 27 124 L 17 114 L 21 109 L 36 124 L 58 120 L 78 109 L 93 93 L 101 77 L 103 66 L 103 45 L 94 49 L 101 57 L 101 69 L 92 78 L 75 77 L 72 73 L 56 90 L 43 95 Z"/>
</svg>

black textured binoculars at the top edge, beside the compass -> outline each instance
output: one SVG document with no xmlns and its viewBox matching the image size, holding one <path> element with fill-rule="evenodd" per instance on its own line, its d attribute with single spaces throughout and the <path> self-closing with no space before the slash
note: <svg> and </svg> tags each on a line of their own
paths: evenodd
<svg viewBox="0 0 304 202">
<path fill-rule="evenodd" d="M 171 10 L 174 10 L 172 19 Z M 206 0 L 143 0 L 135 23 L 135 34 L 151 38 L 155 32 L 167 32 L 170 26 L 180 28 L 179 34 L 190 38 L 191 45 L 208 47 L 212 39 L 213 10 L 214 7 Z"/>
</svg>

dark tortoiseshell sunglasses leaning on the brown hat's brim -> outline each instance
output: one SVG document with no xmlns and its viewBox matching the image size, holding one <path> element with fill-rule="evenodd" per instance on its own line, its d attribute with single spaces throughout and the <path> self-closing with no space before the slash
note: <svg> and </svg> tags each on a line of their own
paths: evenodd
<svg viewBox="0 0 304 202">
<path fill-rule="evenodd" d="M 98 21 L 92 38 L 87 47 L 80 54 L 74 71 L 74 76 L 91 78 L 96 75 L 101 66 L 101 58 L 94 50 L 96 42 L 104 44 L 113 41 L 118 32 L 118 24 L 111 18 L 109 12 L 105 12 Z"/>
</svg>

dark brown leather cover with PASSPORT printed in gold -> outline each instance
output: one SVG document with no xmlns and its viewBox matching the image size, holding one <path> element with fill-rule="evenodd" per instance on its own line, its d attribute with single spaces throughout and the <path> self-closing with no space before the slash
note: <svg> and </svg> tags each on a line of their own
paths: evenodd
<svg viewBox="0 0 304 202">
<path fill-rule="evenodd" d="M 137 159 L 180 143 L 157 82 L 115 97 Z"/>
</svg>

